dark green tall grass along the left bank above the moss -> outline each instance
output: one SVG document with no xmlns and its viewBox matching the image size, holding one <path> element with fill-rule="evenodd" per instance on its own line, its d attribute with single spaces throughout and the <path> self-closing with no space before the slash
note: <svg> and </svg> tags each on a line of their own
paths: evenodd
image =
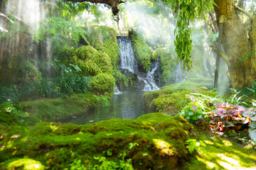
<svg viewBox="0 0 256 170">
<path fill-rule="evenodd" d="M 74 72 L 63 64 L 59 64 L 56 71 L 55 77 L 52 79 L 43 78 L 40 74 L 38 79 L 22 86 L 0 86 L 0 103 L 4 103 L 8 99 L 16 103 L 28 100 L 29 98 L 85 94 L 90 90 L 88 84 L 90 77 L 78 74 L 78 72 Z"/>
</svg>

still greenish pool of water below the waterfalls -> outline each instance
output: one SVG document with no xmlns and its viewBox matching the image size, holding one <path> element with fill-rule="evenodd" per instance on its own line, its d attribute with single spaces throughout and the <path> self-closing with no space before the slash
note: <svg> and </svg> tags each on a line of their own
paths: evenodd
<svg viewBox="0 0 256 170">
<path fill-rule="evenodd" d="M 146 113 L 142 98 L 144 93 L 145 91 L 127 91 L 122 94 L 114 94 L 109 107 L 91 108 L 77 117 L 60 120 L 60 122 L 84 125 L 112 118 L 136 119 Z"/>
</svg>

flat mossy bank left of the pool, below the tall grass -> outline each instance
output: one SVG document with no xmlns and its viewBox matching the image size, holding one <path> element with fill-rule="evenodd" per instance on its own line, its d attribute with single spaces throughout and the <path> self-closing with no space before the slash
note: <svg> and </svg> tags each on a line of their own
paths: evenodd
<svg viewBox="0 0 256 170">
<path fill-rule="evenodd" d="M 44 98 L 38 101 L 22 101 L 19 108 L 27 117 L 25 123 L 34 125 L 39 121 L 53 121 L 78 115 L 95 107 L 97 104 L 107 105 L 107 97 L 95 94 L 76 94 L 68 98 Z"/>
</svg>

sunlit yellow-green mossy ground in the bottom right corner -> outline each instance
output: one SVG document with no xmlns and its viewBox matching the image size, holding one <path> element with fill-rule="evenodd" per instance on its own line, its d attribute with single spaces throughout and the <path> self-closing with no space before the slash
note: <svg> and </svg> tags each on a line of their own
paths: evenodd
<svg viewBox="0 0 256 170">
<path fill-rule="evenodd" d="M 255 169 L 256 152 L 217 135 L 197 130 L 196 140 L 206 144 L 196 149 L 196 157 L 186 162 L 183 169 Z"/>
</svg>

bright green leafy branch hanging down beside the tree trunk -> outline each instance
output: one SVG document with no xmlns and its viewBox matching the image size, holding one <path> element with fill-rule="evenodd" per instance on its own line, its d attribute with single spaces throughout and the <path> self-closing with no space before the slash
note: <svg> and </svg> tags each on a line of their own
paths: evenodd
<svg viewBox="0 0 256 170">
<path fill-rule="evenodd" d="M 203 11 L 209 11 L 213 6 L 213 0 L 198 1 L 198 0 L 166 0 L 173 11 L 178 9 L 177 25 L 174 33 L 176 39 L 174 41 L 175 51 L 180 61 L 183 61 L 183 69 L 192 67 L 192 38 L 190 21 L 195 17 L 203 18 Z M 177 5 L 178 4 L 178 5 Z"/>
</svg>

